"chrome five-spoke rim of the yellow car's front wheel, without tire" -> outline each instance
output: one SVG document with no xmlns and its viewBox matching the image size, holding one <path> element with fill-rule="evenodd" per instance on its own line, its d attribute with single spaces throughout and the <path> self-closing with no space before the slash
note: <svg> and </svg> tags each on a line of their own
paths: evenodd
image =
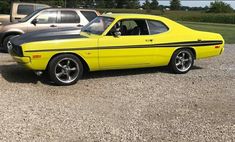
<svg viewBox="0 0 235 142">
<path fill-rule="evenodd" d="M 71 83 L 78 78 L 79 65 L 72 58 L 63 58 L 55 66 L 55 77 L 65 84 Z"/>
</svg>

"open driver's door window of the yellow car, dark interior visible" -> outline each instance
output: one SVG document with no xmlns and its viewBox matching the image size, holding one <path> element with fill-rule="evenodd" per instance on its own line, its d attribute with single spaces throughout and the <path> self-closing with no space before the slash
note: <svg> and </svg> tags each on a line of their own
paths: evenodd
<svg viewBox="0 0 235 142">
<path fill-rule="evenodd" d="M 148 27 L 143 19 L 121 20 L 115 24 L 107 35 L 114 35 L 113 32 L 119 31 L 121 36 L 148 35 Z"/>
</svg>

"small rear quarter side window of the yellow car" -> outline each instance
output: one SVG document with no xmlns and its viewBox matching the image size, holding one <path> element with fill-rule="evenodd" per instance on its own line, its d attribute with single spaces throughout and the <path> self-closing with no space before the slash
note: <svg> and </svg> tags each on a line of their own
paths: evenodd
<svg viewBox="0 0 235 142">
<path fill-rule="evenodd" d="M 169 30 L 168 27 L 160 21 L 148 20 L 148 26 L 151 35 L 164 33 Z"/>
</svg>

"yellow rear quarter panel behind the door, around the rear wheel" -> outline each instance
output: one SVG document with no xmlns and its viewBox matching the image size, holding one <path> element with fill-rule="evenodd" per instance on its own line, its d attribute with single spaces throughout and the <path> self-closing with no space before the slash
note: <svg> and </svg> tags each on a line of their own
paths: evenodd
<svg viewBox="0 0 235 142">
<path fill-rule="evenodd" d="M 220 55 L 224 50 L 224 39 L 220 34 L 196 31 L 180 25 L 174 21 L 163 19 L 169 31 L 163 34 L 155 35 L 154 39 L 157 44 L 175 43 L 175 42 L 198 42 L 200 41 L 222 41 L 222 44 L 218 44 L 219 48 L 215 48 L 217 45 L 206 46 L 175 46 L 175 47 L 158 47 L 156 49 L 157 64 L 166 65 L 170 62 L 171 56 L 179 48 L 193 48 L 196 52 L 196 59 L 203 59 Z"/>
</svg>

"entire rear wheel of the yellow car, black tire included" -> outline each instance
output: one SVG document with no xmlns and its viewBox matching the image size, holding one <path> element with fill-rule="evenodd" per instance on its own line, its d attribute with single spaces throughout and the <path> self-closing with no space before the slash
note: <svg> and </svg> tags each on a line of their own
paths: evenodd
<svg viewBox="0 0 235 142">
<path fill-rule="evenodd" d="M 174 73 L 184 74 L 187 73 L 194 64 L 194 56 L 189 49 L 179 49 L 174 52 L 170 67 Z"/>
</svg>

